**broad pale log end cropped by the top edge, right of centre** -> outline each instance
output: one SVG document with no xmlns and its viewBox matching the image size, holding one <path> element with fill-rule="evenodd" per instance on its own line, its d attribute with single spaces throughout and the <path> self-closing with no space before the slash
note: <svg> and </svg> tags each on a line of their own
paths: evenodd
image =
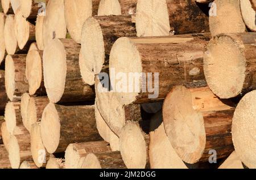
<svg viewBox="0 0 256 180">
<path fill-rule="evenodd" d="M 168 36 L 170 22 L 165 0 L 138 1 L 136 30 L 138 37 Z"/>
</svg>

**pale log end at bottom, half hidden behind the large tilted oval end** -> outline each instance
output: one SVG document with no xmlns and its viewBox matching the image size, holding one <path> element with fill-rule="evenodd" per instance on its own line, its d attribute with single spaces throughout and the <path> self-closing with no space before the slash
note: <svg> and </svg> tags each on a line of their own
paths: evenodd
<svg viewBox="0 0 256 180">
<path fill-rule="evenodd" d="M 166 135 L 162 110 L 151 119 L 149 158 L 151 169 L 187 169 Z"/>
</svg>

